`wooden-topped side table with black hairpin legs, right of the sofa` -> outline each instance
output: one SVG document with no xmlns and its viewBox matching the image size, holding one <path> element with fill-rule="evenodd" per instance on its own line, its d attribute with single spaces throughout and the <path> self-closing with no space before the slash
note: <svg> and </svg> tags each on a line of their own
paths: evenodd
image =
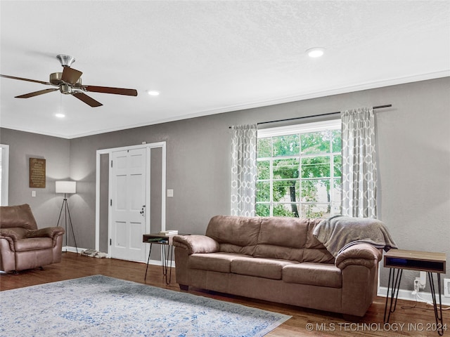
<svg viewBox="0 0 450 337">
<path fill-rule="evenodd" d="M 388 323 L 390 315 L 395 311 L 397 306 L 397 298 L 399 296 L 399 286 L 401 274 L 404 269 L 424 271 L 428 274 L 430 280 L 431 296 L 433 307 L 435 309 L 435 319 L 437 333 L 439 336 L 444 334 L 444 324 L 442 322 L 442 299 L 441 299 L 441 273 L 446 272 L 446 256 L 445 253 L 430 253 L 427 251 L 405 251 L 401 249 L 390 249 L 385 253 L 384 266 L 390 268 L 389 281 L 387 283 L 386 305 L 384 322 Z M 436 300 L 435 282 L 432 273 L 437 274 L 437 289 L 439 292 L 439 307 Z M 389 291 L 391 290 L 391 293 Z M 387 311 L 387 302 L 390 300 L 390 308 Z M 395 298 L 395 300 L 394 300 Z"/>
</svg>

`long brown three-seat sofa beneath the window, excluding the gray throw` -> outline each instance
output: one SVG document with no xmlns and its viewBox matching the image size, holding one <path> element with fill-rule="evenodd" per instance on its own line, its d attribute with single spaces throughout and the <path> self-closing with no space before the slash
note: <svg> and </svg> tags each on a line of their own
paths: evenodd
<svg viewBox="0 0 450 337">
<path fill-rule="evenodd" d="M 174 237 L 176 282 L 362 317 L 382 252 L 357 243 L 333 257 L 313 235 L 321 220 L 215 216 L 205 235 Z"/>
</svg>

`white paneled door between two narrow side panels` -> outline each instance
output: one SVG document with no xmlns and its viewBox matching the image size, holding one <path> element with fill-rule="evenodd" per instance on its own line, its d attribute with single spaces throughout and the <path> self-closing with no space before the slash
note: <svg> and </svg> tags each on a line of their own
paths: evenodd
<svg viewBox="0 0 450 337">
<path fill-rule="evenodd" d="M 110 256 L 143 262 L 148 216 L 146 148 L 113 152 L 110 190 Z"/>
</svg>

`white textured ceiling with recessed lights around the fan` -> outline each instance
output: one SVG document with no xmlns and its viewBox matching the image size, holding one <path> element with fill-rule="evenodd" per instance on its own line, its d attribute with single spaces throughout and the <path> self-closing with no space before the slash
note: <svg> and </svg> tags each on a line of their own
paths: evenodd
<svg viewBox="0 0 450 337">
<path fill-rule="evenodd" d="M 1 78 L 2 127 L 63 138 L 450 75 L 447 0 L 2 0 L 0 12 L 1 74 L 49 81 L 68 54 L 83 84 L 138 91 L 88 93 L 103 103 L 89 107 L 58 91 L 14 98 L 53 87 Z"/>
</svg>

